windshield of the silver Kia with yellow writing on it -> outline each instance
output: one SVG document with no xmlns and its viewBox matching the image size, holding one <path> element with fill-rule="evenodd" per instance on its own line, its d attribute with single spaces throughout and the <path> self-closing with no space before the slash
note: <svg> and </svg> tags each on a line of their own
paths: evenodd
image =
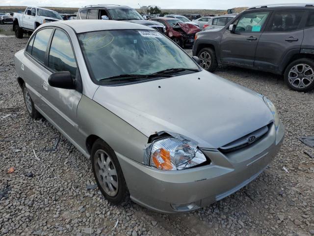
<svg viewBox="0 0 314 236">
<path fill-rule="evenodd" d="M 156 31 L 105 30 L 81 33 L 78 39 L 90 75 L 97 81 L 167 69 L 199 69 L 175 43 Z"/>
</svg>

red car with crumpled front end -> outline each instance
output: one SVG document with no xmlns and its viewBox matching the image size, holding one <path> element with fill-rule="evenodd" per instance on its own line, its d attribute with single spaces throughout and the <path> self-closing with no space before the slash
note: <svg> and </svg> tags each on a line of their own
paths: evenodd
<svg viewBox="0 0 314 236">
<path fill-rule="evenodd" d="M 166 35 L 171 38 L 180 47 L 192 45 L 194 43 L 195 33 L 201 31 L 197 26 L 186 24 L 175 18 L 157 17 L 150 21 L 157 21 L 166 27 Z"/>
</svg>

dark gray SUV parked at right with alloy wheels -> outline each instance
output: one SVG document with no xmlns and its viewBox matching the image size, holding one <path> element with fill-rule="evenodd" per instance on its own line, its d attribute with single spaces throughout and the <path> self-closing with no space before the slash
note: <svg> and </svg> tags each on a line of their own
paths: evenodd
<svg viewBox="0 0 314 236">
<path fill-rule="evenodd" d="M 314 5 L 251 7 L 223 29 L 196 34 L 193 56 L 212 72 L 218 63 L 284 75 L 289 88 L 314 89 Z"/>
</svg>

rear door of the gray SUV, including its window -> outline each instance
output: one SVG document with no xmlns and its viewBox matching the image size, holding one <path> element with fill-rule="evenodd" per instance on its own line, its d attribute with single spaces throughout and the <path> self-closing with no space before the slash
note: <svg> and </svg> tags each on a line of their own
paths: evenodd
<svg viewBox="0 0 314 236">
<path fill-rule="evenodd" d="M 300 53 L 305 11 L 274 11 L 259 40 L 254 66 L 281 73 L 285 59 Z"/>
</svg>

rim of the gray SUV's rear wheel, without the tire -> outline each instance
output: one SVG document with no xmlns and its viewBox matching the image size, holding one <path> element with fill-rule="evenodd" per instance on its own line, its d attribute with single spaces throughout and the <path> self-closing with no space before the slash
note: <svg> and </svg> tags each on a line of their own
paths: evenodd
<svg viewBox="0 0 314 236">
<path fill-rule="evenodd" d="M 296 64 L 289 71 L 288 81 L 295 88 L 306 88 L 314 81 L 314 70 L 308 64 Z"/>
</svg>

